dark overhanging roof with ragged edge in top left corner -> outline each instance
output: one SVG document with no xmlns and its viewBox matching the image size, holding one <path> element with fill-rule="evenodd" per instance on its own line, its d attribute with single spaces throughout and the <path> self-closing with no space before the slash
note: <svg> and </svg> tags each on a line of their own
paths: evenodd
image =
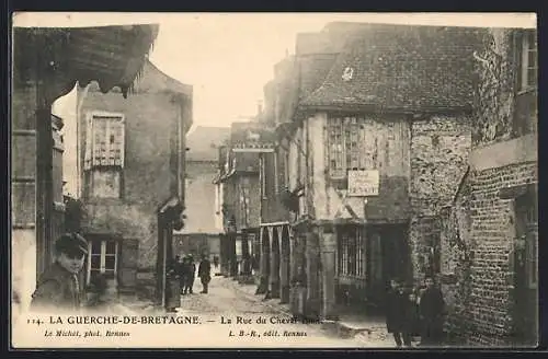
<svg viewBox="0 0 548 359">
<path fill-rule="evenodd" d="M 65 79 L 72 81 L 70 89 L 75 82 L 84 86 L 98 81 L 102 92 L 119 86 L 126 96 L 158 31 L 158 25 L 149 24 L 16 27 L 13 30 L 14 81 L 50 83 L 52 79 Z"/>
</svg>

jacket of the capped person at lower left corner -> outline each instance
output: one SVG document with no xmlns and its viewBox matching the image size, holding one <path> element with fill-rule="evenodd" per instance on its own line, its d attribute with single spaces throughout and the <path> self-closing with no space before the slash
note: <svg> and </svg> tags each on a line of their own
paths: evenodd
<svg viewBox="0 0 548 359">
<path fill-rule="evenodd" d="M 31 301 L 32 311 L 79 311 L 80 287 L 76 275 L 57 262 L 42 274 Z"/>
</svg>

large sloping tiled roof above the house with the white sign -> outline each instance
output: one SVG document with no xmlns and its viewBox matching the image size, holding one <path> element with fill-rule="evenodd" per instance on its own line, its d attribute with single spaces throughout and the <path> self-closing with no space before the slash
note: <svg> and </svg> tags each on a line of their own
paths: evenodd
<svg viewBox="0 0 548 359">
<path fill-rule="evenodd" d="M 376 105 L 426 109 L 470 106 L 486 30 L 369 24 L 346 36 L 326 81 L 302 106 Z M 352 79 L 343 80 L 351 68 Z"/>
</svg>

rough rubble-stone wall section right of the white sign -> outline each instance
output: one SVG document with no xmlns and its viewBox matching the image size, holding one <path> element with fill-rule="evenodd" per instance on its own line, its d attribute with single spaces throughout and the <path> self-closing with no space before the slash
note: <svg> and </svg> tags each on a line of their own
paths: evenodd
<svg viewBox="0 0 548 359">
<path fill-rule="evenodd" d="M 467 115 L 434 115 L 411 125 L 409 241 L 415 280 L 422 280 L 427 268 L 427 252 L 439 238 L 438 216 L 457 193 L 470 147 Z"/>
</svg>

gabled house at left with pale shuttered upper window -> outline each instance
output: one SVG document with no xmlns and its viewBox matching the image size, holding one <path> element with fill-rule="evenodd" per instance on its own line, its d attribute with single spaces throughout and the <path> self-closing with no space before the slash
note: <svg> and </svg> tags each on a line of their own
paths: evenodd
<svg viewBox="0 0 548 359">
<path fill-rule="evenodd" d="M 172 232 L 183 225 L 185 136 L 192 85 L 146 61 L 133 95 L 79 91 L 79 176 L 89 241 L 85 280 L 113 279 L 123 294 L 163 302 Z M 156 293 L 156 294 L 155 294 Z"/>
</svg>

